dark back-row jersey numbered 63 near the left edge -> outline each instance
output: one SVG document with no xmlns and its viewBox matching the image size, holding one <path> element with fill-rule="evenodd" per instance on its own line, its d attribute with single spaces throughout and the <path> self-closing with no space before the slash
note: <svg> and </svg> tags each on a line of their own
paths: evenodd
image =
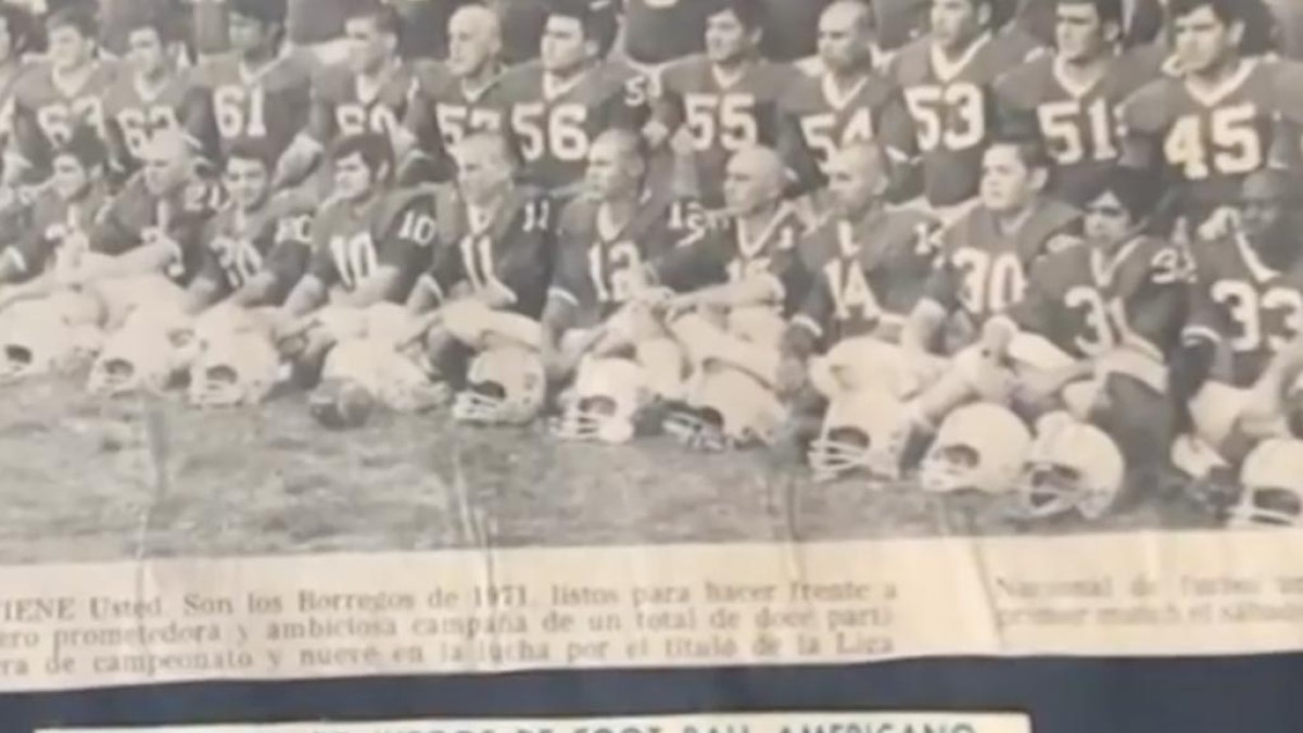
<svg viewBox="0 0 1303 733">
<path fill-rule="evenodd" d="M 47 166 L 53 147 L 82 125 L 103 136 L 104 90 L 117 73 L 116 65 L 100 61 L 86 77 L 65 82 L 50 64 L 29 67 L 13 89 L 14 141 L 23 159 Z"/>
</svg>

